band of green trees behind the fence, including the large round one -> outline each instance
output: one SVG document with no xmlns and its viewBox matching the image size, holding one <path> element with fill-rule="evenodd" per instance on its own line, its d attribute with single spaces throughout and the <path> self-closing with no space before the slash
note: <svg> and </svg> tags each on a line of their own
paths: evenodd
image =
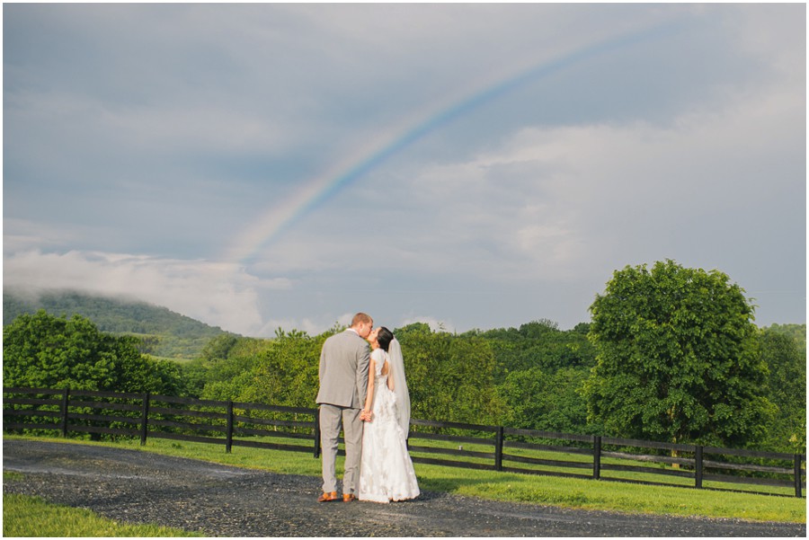
<svg viewBox="0 0 809 540">
<path fill-rule="evenodd" d="M 759 328 L 725 274 L 674 261 L 617 270 L 591 314 L 567 331 L 394 329 L 413 418 L 805 452 L 805 324 Z M 220 334 L 181 364 L 40 311 L 4 327 L 4 385 L 314 407 L 321 347 L 342 330 Z"/>
</svg>

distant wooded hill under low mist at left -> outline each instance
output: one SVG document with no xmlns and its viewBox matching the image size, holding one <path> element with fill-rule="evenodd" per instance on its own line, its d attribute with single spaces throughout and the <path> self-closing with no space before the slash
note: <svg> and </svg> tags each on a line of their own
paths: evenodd
<svg viewBox="0 0 809 540">
<path fill-rule="evenodd" d="M 229 333 L 168 308 L 137 300 L 68 290 L 33 295 L 4 288 L 4 325 L 12 323 L 20 314 L 34 314 L 40 309 L 68 318 L 80 314 L 93 321 L 102 332 L 137 335 L 144 341 L 141 351 L 160 358 L 195 359 L 211 338 Z"/>
</svg>

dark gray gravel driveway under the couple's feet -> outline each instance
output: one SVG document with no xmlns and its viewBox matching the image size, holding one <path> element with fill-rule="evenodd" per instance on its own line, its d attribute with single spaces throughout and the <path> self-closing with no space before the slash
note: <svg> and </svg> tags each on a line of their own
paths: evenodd
<svg viewBox="0 0 809 540">
<path fill-rule="evenodd" d="M 138 450 L 4 441 L 4 493 L 205 536 L 806 536 L 805 524 L 636 516 L 426 492 L 413 501 L 317 503 L 320 480 Z"/>
</svg>

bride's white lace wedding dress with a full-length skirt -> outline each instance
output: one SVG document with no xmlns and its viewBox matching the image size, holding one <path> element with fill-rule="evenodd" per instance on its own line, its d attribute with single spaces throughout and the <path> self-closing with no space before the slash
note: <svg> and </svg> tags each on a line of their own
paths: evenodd
<svg viewBox="0 0 809 540">
<path fill-rule="evenodd" d="M 382 375 L 387 352 L 374 350 L 371 358 L 376 364 L 373 416 L 362 432 L 358 498 L 374 502 L 414 499 L 420 491 L 407 452 L 407 434 L 399 425 L 396 394 L 387 387 L 387 374 Z M 396 376 L 393 382 L 396 385 Z"/>
</svg>

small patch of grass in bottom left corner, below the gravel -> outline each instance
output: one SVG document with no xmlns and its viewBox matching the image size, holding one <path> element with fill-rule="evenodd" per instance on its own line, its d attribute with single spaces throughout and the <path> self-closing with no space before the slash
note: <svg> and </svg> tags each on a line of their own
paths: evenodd
<svg viewBox="0 0 809 540">
<path fill-rule="evenodd" d="M 7 475 L 3 474 L 5 482 Z M 3 536 L 201 536 L 170 527 L 130 525 L 88 509 L 49 504 L 40 497 L 3 494 Z"/>
</svg>

